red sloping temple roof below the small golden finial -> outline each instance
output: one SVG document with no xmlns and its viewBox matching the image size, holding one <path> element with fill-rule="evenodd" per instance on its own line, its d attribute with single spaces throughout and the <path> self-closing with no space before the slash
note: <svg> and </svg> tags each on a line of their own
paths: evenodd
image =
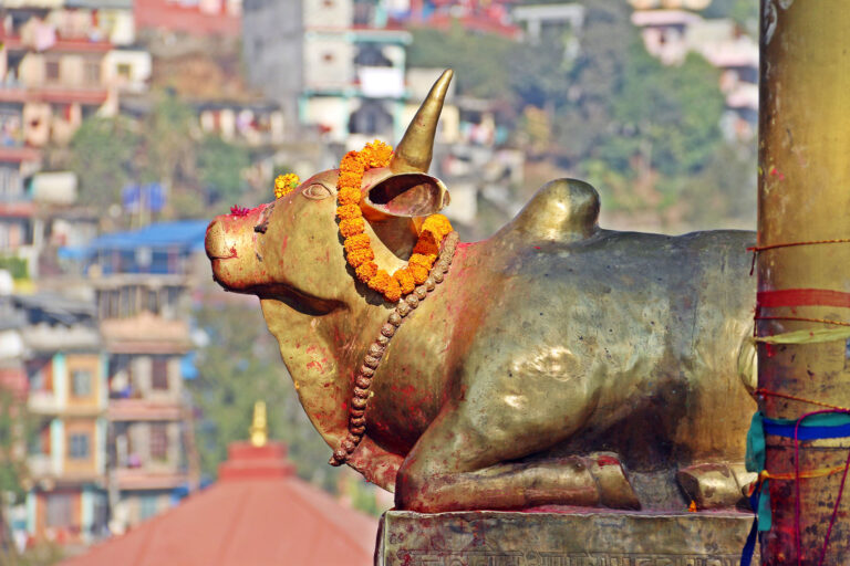
<svg viewBox="0 0 850 566">
<path fill-rule="evenodd" d="M 212 486 L 61 566 L 372 564 L 377 520 L 296 476 L 282 444 L 229 457 Z"/>
</svg>

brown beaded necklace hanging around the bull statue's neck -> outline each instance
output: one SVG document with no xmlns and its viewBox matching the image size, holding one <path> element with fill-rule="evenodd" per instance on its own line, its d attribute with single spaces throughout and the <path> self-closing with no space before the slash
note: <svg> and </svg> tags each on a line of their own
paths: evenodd
<svg viewBox="0 0 850 566">
<path fill-rule="evenodd" d="M 340 444 L 340 448 L 333 451 L 333 455 L 330 462 L 328 462 L 331 465 L 344 464 L 352 452 L 360 446 L 360 441 L 363 440 L 363 434 L 366 432 L 366 406 L 371 397 L 369 389 L 372 386 L 375 370 L 381 364 L 381 358 L 384 356 L 390 340 L 402 325 L 404 318 L 411 311 L 419 306 L 419 303 L 428 296 L 428 293 L 443 283 L 445 274 L 448 272 L 449 265 L 452 265 L 452 260 L 457 249 L 457 232 L 449 232 L 446 235 L 443 249 L 439 252 L 439 259 L 431 269 L 428 279 L 422 285 L 416 286 L 413 293 L 398 301 L 398 304 L 387 317 L 386 323 L 381 327 L 377 338 L 369 346 L 363 365 L 360 366 L 357 376 L 354 379 L 354 391 L 349 405 L 349 433 Z"/>
</svg>

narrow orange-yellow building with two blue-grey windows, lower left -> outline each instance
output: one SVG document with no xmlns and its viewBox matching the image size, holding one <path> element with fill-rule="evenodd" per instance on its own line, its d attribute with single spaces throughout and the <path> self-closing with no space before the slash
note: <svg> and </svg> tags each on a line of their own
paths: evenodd
<svg viewBox="0 0 850 566">
<path fill-rule="evenodd" d="M 12 298 L 37 420 L 28 465 L 27 531 L 89 543 L 106 533 L 106 356 L 91 303 L 58 295 Z"/>
</svg>

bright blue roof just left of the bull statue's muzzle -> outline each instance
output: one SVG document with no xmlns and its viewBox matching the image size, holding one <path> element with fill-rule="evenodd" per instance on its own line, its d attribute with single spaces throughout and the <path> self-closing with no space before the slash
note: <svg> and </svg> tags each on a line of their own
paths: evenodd
<svg viewBox="0 0 850 566">
<path fill-rule="evenodd" d="M 180 220 L 158 222 L 128 232 L 103 234 L 84 248 L 83 255 L 107 251 L 131 251 L 138 248 L 203 250 L 207 224 L 209 224 L 208 220 Z M 66 250 L 66 253 L 69 252 L 74 253 Z"/>
</svg>

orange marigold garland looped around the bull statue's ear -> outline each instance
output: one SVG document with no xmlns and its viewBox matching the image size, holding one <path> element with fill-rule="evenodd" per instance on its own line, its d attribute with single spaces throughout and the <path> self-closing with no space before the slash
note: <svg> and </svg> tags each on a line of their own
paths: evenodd
<svg viewBox="0 0 850 566">
<path fill-rule="evenodd" d="M 393 148 L 377 140 L 366 144 L 361 151 L 345 154 L 340 163 L 340 176 L 336 181 L 336 216 L 340 219 L 340 233 L 345 239 L 345 256 L 354 268 L 357 279 L 394 303 L 428 279 L 431 268 L 439 253 L 439 244 L 452 231 L 452 224 L 442 214 L 428 217 L 422 226 L 419 240 L 413 249 L 407 266 L 397 270 L 392 276 L 377 268 L 360 210 L 361 184 L 363 174 L 372 168 L 386 167 L 392 155 Z"/>
</svg>

